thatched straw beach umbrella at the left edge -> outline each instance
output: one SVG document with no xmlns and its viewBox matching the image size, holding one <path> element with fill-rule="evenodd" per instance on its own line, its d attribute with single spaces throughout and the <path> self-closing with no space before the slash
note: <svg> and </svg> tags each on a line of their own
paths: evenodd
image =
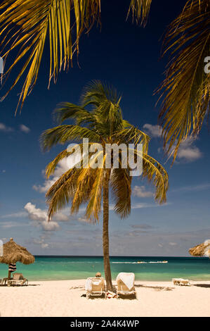
<svg viewBox="0 0 210 331">
<path fill-rule="evenodd" d="M 25 249 L 25 247 L 19 246 L 13 241 L 13 238 L 9 242 L 3 245 L 3 256 L 0 256 L 0 263 L 11 263 L 21 262 L 23 264 L 34 263 L 35 258 L 32 254 Z M 8 279 L 11 278 L 11 271 L 8 271 Z"/>
</svg>

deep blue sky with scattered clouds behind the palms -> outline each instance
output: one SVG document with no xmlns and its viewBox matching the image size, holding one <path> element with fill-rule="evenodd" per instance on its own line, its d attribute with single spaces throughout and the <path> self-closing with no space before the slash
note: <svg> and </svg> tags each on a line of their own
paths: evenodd
<svg viewBox="0 0 210 331">
<path fill-rule="evenodd" d="M 210 237 L 209 132 L 204 125 L 195 142 L 187 141 L 176 163 L 166 162 L 159 137 L 154 89 L 163 79 L 166 58 L 159 59 L 166 25 L 181 11 L 185 1 L 153 1 L 145 28 L 126 22 L 126 4 L 102 3 L 101 32 L 94 27 L 81 38 L 79 65 L 75 59 L 68 73 L 60 73 L 48 90 L 48 49 L 39 80 L 22 108 L 14 115 L 20 85 L 1 102 L 0 113 L 0 239 L 13 237 L 33 254 L 102 255 L 102 222 L 84 223 L 84 210 L 70 216 L 65 208 L 46 224 L 46 188 L 65 170 L 62 163 L 51 182 L 44 168 L 63 149 L 44 154 L 41 132 L 53 127 L 52 111 L 60 101 L 77 103 L 81 89 L 93 79 L 110 82 L 122 94 L 124 118 L 150 137 L 150 154 L 165 163 L 169 172 L 167 203 L 158 206 L 153 187 L 141 178 L 133 180 L 131 216 L 120 220 L 110 207 L 110 254 L 188 256 L 188 248 Z M 164 8 L 164 11 L 163 11 Z M 0 54 L 1 55 L 1 54 Z M 15 75 L 15 70 L 13 75 Z M 14 77 L 11 75 L 11 79 Z M 9 81 L 0 96 L 4 95 Z M 112 203 L 111 203 L 112 204 Z"/>
</svg>

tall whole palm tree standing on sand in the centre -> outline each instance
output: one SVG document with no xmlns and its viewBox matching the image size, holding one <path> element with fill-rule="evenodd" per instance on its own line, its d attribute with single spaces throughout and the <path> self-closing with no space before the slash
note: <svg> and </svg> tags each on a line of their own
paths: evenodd
<svg viewBox="0 0 210 331">
<path fill-rule="evenodd" d="M 103 256 L 107 289 L 112 290 L 112 277 L 109 254 L 109 192 L 112 190 L 114 198 L 114 211 L 125 218 L 131 212 L 131 170 L 122 165 L 122 152 L 117 160 L 119 168 L 113 166 L 114 157 L 111 158 L 111 168 L 106 168 L 106 144 L 133 144 L 131 148 L 138 156 L 138 144 L 143 144 L 143 177 L 152 181 L 156 188 L 155 200 L 160 204 L 166 201 L 168 189 L 168 175 L 166 170 L 154 158 L 147 154 L 150 138 L 138 128 L 129 124 L 122 118 L 119 106 L 120 97 L 112 87 L 94 81 L 84 89 L 79 105 L 64 103 L 55 110 L 55 117 L 60 125 L 46 130 L 41 135 L 41 145 L 44 150 L 51 149 L 56 144 L 65 144 L 76 141 L 81 146 L 82 162 L 86 166 L 74 164 L 53 184 L 46 193 L 48 203 L 48 218 L 52 218 L 60 208 L 71 203 L 71 212 L 77 213 L 81 204 L 86 204 L 86 220 L 96 223 L 99 220 L 101 201 L 103 200 Z M 91 107 L 91 110 L 88 110 Z M 74 124 L 64 125 L 64 120 L 74 120 Z M 88 163 L 84 162 L 82 139 L 88 138 Z M 96 144 L 103 146 L 102 151 L 96 153 Z M 76 145 L 74 145 L 76 148 Z M 92 148 L 92 149 L 91 149 Z M 55 157 L 46 167 L 46 175 L 53 174 L 56 165 L 63 158 L 72 155 L 72 150 L 65 149 Z M 98 156 L 102 155 L 98 168 L 93 165 Z M 88 165 L 87 165 L 88 164 Z"/>
</svg>

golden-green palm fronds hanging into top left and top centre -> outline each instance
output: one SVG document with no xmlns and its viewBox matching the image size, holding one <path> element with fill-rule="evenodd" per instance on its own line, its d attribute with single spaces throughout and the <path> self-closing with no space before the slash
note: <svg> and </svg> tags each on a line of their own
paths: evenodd
<svg viewBox="0 0 210 331">
<path fill-rule="evenodd" d="M 131 0 L 128 15 L 145 23 L 151 0 Z M 51 79 L 69 68 L 74 53 L 79 54 L 79 38 L 88 33 L 94 23 L 100 23 L 100 0 L 3 0 L 0 4 L 0 54 L 6 58 L 18 54 L 5 75 L 21 60 L 20 73 L 6 95 L 26 74 L 18 106 L 22 107 L 32 91 L 39 73 L 46 40 L 49 39 Z M 27 56 L 26 56 L 27 54 Z M 6 97 L 4 96 L 4 98 Z M 17 107 L 18 109 L 18 107 Z M 16 109 L 16 111 L 17 111 Z"/>
</svg>

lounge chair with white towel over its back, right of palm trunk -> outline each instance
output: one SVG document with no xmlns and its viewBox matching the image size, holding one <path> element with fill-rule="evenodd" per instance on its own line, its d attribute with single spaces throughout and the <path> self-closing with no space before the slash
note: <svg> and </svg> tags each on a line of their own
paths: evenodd
<svg viewBox="0 0 210 331">
<path fill-rule="evenodd" d="M 119 298 L 119 294 L 122 294 L 134 295 L 137 299 L 136 289 L 134 287 L 134 280 L 134 273 L 119 273 L 119 275 L 117 275 L 117 298 Z"/>
</svg>

